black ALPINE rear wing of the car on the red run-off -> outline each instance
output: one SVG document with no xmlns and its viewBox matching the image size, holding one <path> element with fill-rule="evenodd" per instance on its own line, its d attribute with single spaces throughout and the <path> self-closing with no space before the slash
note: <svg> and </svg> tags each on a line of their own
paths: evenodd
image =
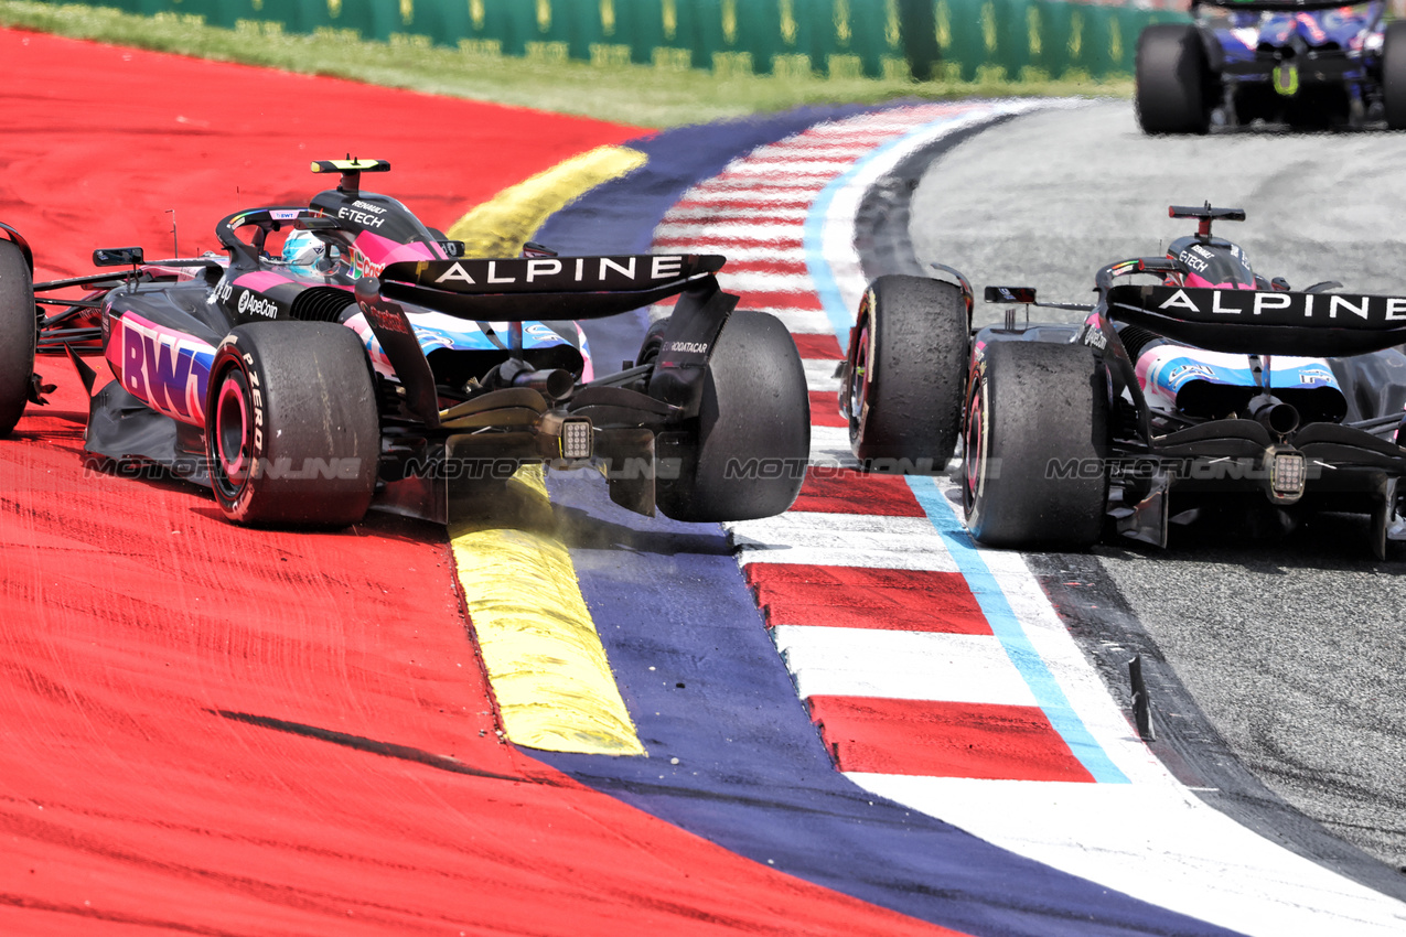
<svg viewBox="0 0 1406 937">
<path fill-rule="evenodd" d="M 718 254 L 409 260 L 381 271 L 381 295 L 460 319 L 600 319 L 676 295 L 723 268 Z"/>
</svg>

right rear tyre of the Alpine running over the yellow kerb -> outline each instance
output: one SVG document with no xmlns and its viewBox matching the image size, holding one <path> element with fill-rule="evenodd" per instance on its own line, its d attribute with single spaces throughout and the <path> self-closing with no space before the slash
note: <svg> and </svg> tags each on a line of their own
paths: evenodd
<svg viewBox="0 0 1406 937">
<path fill-rule="evenodd" d="M 655 504 L 676 521 L 745 521 L 794 503 L 810 458 L 806 369 L 786 326 L 765 312 L 734 312 L 713 348 L 697 424 L 661 457 Z M 661 469 L 664 468 L 661 459 Z"/>
</svg>

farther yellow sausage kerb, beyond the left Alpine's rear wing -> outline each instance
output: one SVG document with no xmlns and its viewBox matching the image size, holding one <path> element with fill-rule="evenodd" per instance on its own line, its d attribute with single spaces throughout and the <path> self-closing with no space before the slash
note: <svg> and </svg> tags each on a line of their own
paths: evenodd
<svg viewBox="0 0 1406 937">
<path fill-rule="evenodd" d="M 447 233 L 464 242 L 468 257 L 516 257 L 548 215 L 645 162 L 644 153 L 626 146 L 598 146 L 505 188 L 454 222 Z"/>
</svg>

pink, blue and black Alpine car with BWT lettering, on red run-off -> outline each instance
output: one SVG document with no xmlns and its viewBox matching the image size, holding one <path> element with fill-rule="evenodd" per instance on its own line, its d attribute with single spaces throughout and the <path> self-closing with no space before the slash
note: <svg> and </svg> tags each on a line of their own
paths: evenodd
<svg viewBox="0 0 1406 937">
<path fill-rule="evenodd" d="M 97 250 L 125 270 L 34 284 L 30 244 L 0 226 L 0 437 L 52 389 L 37 351 L 67 353 L 91 393 L 79 351 L 100 347 L 115 379 L 91 395 L 86 450 L 208 480 L 240 523 L 346 525 L 373 506 L 444 521 L 450 482 L 529 462 L 600 468 L 612 500 L 676 520 L 794 500 L 800 475 L 768 466 L 808 454 L 804 371 L 778 319 L 721 292 L 723 257 L 468 258 L 361 191 L 388 163 L 312 169 L 336 188 L 224 218 L 224 254 Z M 596 375 L 575 320 L 669 296 L 640 360 Z"/>
</svg>

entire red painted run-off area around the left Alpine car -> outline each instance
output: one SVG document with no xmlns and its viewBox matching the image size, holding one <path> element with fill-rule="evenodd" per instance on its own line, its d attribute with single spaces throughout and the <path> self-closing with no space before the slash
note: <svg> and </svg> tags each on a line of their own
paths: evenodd
<svg viewBox="0 0 1406 937">
<path fill-rule="evenodd" d="M 176 198 L 183 230 L 302 201 L 347 149 L 447 225 L 634 132 L 32 34 L 0 56 L 0 219 L 51 273 Z M 246 530 L 89 472 L 82 386 L 38 369 L 59 389 L 0 440 L 0 933 L 950 933 L 502 743 L 443 528 Z"/>
</svg>

